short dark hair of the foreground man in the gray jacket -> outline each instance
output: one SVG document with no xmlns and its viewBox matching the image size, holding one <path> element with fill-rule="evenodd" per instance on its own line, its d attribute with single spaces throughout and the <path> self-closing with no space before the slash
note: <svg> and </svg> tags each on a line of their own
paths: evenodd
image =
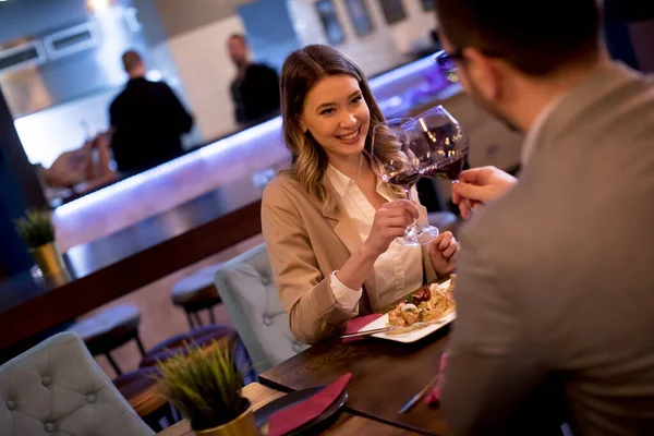
<svg viewBox="0 0 654 436">
<path fill-rule="evenodd" d="M 601 44 L 597 0 L 436 0 L 456 49 L 476 48 L 531 75 L 593 60 Z"/>
</svg>

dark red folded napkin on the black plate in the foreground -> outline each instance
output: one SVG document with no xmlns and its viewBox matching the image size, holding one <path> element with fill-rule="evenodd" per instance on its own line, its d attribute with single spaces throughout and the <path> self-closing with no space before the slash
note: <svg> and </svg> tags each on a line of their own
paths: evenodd
<svg viewBox="0 0 654 436">
<path fill-rule="evenodd" d="M 340 398 L 351 379 L 352 373 L 342 375 L 310 399 L 272 413 L 268 426 L 268 436 L 286 435 L 318 417 Z"/>
</svg>

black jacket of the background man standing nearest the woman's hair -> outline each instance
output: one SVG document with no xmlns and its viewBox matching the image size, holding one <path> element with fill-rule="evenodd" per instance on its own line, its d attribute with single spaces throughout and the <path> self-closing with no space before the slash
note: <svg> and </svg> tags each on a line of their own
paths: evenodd
<svg viewBox="0 0 654 436">
<path fill-rule="evenodd" d="M 279 76 L 262 63 L 251 63 L 244 76 L 231 83 L 234 119 L 240 124 L 251 123 L 279 111 Z"/>
</svg>

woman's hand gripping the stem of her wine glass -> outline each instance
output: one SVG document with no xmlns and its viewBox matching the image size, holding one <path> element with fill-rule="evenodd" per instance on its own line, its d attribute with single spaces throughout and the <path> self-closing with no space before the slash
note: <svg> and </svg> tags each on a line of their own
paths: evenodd
<svg viewBox="0 0 654 436">
<path fill-rule="evenodd" d="M 386 203 L 375 213 L 371 234 L 364 245 L 377 257 L 388 250 L 393 239 L 404 235 L 407 227 L 417 219 L 417 208 L 408 199 Z"/>
</svg>

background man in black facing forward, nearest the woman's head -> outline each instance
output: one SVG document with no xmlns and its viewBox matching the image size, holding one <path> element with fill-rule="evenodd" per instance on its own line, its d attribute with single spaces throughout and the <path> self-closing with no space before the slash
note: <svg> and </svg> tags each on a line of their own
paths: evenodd
<svg viewBox="0 0 654 436">
<path fill-rule="evenodd" d="M 243 35 L 230 36 L 227 47 L 237 66 L 237 77 L 230 88 L 235 121 L 247 125 L 277 116 L 280 105 L 277 72 L 263 63 L 250 62 Z"/>
</svg>

